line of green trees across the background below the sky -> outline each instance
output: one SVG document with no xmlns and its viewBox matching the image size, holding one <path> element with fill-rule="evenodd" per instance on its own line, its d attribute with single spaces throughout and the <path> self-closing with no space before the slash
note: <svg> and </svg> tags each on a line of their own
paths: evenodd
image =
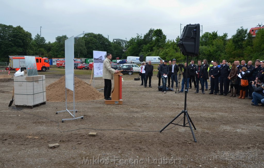
<svg viewBox="0 0 264 168">
<path fill-rule="evenodd" d="M 228 34 L 218 35 L 217 31 L 205 32 L 200 36 L 199 55 L 195 58 L 207 60 L 227 59 L 256 60 L 264 59 L 264 29 L 257 32 L 255 38 L 247 29 L 240 27 L 231 38 Z M 46 42 L 44 37 L 37 34 L 34 38 L 30 32 L 21 26 L 0 24 L 0 62 L 8 62 L 8 55 L 39 55 L 48 58 L 64 58 L 64 42 L 67 35 L 58 36 L 55 42 Z M 106 51 L 116 57 L 126 59 L 128 56 L 159 56 L 162 59 L 178 62 L 185 61 L 178 47 L 178 36 L 175 40 L 167 40 L 161 29 L 150 28 L 141 36 L 131 37 L 126 45 L 126 50 L 118 42 L 110 42 L 102 34 L 87 33 L 75 40 L 75 58 L 93 58 L 93 50 Z"/>
</svg>

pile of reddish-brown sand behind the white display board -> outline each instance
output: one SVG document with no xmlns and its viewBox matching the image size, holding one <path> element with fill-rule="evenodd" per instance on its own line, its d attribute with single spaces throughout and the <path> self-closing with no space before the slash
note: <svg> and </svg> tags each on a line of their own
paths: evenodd
<svg viewBox="0 0 264 168">
<path fill-rule="evenodd" d="M 74 77 L 74 84 L 75 101 L 99 100 L 104 98 L 102 93 L 77 77 Z M 65 101 L 65 76 L 46 87 L 46 99 L 52 102 Z M 73 91 L 69 89 L 67 89 L 67 101 L 73 101 Z"/>
</svg>

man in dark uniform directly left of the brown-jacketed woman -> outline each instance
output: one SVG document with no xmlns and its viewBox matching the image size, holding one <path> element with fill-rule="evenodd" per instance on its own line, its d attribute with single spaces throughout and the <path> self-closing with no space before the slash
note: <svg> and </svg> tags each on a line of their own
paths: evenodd
<svg viewBox="0 0 264 168">
<path fill-rule="evenodd" d="M 227 60 L 223 59 L 222 65 L 220 67 L 220 94 L 219 95 L 227 95 L 229 89 L 228 75 L 230 73 L 230 67 L 227 65 Z M 224 89 L 223 89 L 224 87 Z"/>
</svg>

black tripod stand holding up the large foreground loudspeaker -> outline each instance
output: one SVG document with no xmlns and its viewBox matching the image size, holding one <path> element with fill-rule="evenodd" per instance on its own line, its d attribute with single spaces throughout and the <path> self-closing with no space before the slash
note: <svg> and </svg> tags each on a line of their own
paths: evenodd
<svg viewBox="0 0 264 168">
<path fill-rule="evenodd" d="M 188 63 L 188 55 L 187 55 L 187 63 Z M 173 120 L 171 120 L 171 122 L 169 122 L 164 128 L 162 128 L 159 132 L 162 132 L 166 127 L 169 126 L 169 124 L 174 124 L 174 125 L 179 125 L 179 124 L 175 124 L 175 123 L 172 123 L 176 118 L 178 118 L 178 116 L 180 116 L 181 114 L 184 114 L 183 116 L 183 125 L 180 125 L 182 127 L 189 127 L 191 129 L 191 132 L 192 132 L 192 136 L 194 137 L 194 142 L 197 142 L 196 141 L 196 138 L 194 136 L 194 131 L 192 130 L 192 126 L 194 127 L 194 129 L 196 130 L 195 126 L 194 126 L 194 123 L 192 123 L 192 120 L 186 110 L 186 107 L 187 107 L 187 104 L 186 104 L 186 100 L 187 100 L 187 71 L 188 71 L 188 68 L 186 67 L 186 79 L 185 79 L 185 99 L 184 99 L 184 110 L 181 111 L 180 114 L 178 114 Z M 188 120 L 188 123 L 189 123 L 189 126 L 186 126 L 187 123 L 185 123 L 185 118 L 187 118 Z M 191 125 L 192 124 L 192 125 Z"/>
</svg>

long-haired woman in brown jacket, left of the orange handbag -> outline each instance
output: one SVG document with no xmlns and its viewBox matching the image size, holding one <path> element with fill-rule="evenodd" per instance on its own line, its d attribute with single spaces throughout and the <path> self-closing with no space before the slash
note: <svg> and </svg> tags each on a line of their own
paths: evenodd
<svg viewBox="0 0 264 168">
<path fill-rule="evenodd" d="M 235 97 L 237 94 L 237 89 L 238 89 L 238 80 L 237 80 L 237 66 L 235 63 L 232 63 L 232 68 L 229 73 L 229 76 L 227 77 L 230 80 L 230 90 L 231 90 L 231 95 L 229 97 Z"/>
</svg>

